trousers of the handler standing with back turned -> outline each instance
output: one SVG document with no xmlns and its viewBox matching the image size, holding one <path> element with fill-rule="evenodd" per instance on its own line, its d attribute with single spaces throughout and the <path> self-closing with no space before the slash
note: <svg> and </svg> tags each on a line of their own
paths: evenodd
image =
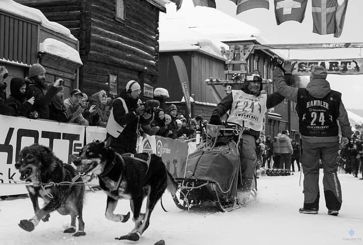
<svg viewBox="0 0 363 245">
<path fill-rule="evenodd" d="M 329 210 L 340 210 L 342 203 L 341 187 L 337 176 L 335 159 L 339 142 L 302 143 L 302 171 L 304 171 L 304 208 L 319 209 L 319 159 L 324 169 L 324 196 Z"/>
</svg>

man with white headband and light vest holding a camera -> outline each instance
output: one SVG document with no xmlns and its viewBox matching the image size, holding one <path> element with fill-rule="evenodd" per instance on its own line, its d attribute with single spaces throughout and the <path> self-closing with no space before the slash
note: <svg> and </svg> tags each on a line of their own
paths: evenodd
<svg viewBox="0 0 363 245">
<path fill-rule="evenodd" d="M 113 101 L 106 137 L 111 137 L 110 147 L 119 154 L 136 153 L 139 116 L 146 111 L 143 105 L 138 105 L 140 93 L 139 83 L 130 80 L 125 91 Z"/>
</svg>

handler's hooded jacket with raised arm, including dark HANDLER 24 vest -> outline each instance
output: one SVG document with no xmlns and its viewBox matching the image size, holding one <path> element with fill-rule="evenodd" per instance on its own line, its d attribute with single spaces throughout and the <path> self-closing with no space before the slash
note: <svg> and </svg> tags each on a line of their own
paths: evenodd
<svg viewBox="0 0 363 245">
<path fill-rule="evenodd" d="M 286 74 L 290 74 L 286 71 Z M 340 93 L 332 91 L 326 79 L 316 78 L 310 81 L 306 89 L 287 86 L 282 70 L 274 69 L 273 80 L 281 95 L 298 104 L 299 127 L 302 141 L 310 143 L 336 142 L 338 120 L 343 137 L 352 134 L 348 114 L 340 99 Z"/>
</svg>

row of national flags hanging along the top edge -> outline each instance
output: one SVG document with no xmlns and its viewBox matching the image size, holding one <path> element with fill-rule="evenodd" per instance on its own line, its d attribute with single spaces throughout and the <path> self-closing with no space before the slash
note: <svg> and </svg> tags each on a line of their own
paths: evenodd
<svg viewBox="0 0 363 245">
<path fill-rule="evenodd" d="M 183 0 L 170 0 L 181 7 Z M 250 9 L 270 9 L 269 0 L 229 0 L 237 6 L 236 15 Z M 320 35 L 334 34 L 340 37 L 345 20 L 348 0 L 312 0 L 313 32 Z M 216 8 L 215 0 L 193 0 L 194 6 Z M 308 0 L 274 0 L 276 23 L 285 21 L 302 23 Z"/>
</svg>

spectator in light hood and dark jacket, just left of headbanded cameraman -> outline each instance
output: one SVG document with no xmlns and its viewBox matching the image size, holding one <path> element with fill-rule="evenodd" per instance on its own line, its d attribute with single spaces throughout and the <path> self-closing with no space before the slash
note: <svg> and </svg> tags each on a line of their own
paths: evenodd
<svg viewBox="0 0 363 245">
<path fill-rule="evenodd" d="M 101 90 L 97 93 L 94 93 L 89 99 L 90 106 L 96 106 L 95 109 L 98 114 L 98 120 L 92 120 L 90 125 L 92 126 L 101 126 L 106 127 L 108 116 L 105 111 L 106 103 L 107 103 L 107 95 L 104 90 Z M 95 119 L 92 117 L 92 119 Z"/>
</svg>

